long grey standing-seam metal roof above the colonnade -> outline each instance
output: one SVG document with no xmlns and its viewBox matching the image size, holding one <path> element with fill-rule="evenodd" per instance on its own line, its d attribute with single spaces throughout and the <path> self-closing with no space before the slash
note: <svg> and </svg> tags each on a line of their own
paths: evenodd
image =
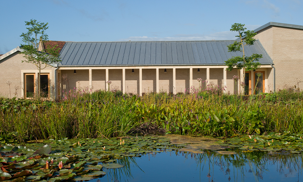
<svg viewBox="0 0 303 182">
<path fill-rule="evenodd" d="M 66 42 L 60 58 L 62 66 L 223 65 L 232 56 L 243 55 L 228 52 L 227 45 L 234 41 Z M 272 64 L 258 40 L 244 49 L 245 56 L 262 54 L 259 62 Z"/>
</svg>

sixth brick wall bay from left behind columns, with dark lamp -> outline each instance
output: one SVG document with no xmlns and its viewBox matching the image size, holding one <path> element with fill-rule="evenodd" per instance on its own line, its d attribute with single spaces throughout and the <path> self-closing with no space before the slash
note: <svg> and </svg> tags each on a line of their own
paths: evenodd
<svg viewBox="0 0 303 182">
<path fill-rule="evenodd" d="M 160 92 L 164 91 L 166 93 L 173 92 L 173 70 L 166 69 L 159 69 L 159 89 Z"/>
</svg>

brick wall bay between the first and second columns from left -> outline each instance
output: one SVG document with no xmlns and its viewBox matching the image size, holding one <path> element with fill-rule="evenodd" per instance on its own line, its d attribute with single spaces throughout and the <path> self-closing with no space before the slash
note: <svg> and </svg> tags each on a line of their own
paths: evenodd
<svg viewBox="0 0 303 182">
<path fill-rule="evenodd" d="M 92 91 L 105 90 L 107 84 L 105 69 L 92 69 Z"/>
</svg>

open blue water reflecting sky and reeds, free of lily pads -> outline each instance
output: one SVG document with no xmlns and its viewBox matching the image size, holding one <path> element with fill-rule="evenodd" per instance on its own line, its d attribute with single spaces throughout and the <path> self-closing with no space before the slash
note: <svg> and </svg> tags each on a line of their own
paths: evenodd
<svg viewBox="0 0 303 182">
<path fill-rule="evenodd" d="M 91 181 L 303 181 L 302 155 L 272 157 L 263 153 L 259 162 L 211 155 L 167 152 L 117 161 L 129 167 L 103 169 L 106 175 Z M 233 160 L 233 163 L 231 161 Z M 201 163 L 199 162 L 201 161 Z M 244 165 L 238 165 L 238 164 Z M 257 168 L 257 169 L 256 169 Z M 258 172 L 257 172 L 258 171 Z"/>
</svg>

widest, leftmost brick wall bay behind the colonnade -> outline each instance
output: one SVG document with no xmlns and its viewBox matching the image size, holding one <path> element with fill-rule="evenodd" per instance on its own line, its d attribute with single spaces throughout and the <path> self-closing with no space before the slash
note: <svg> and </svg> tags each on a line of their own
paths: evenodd
<svg viewBox="0 0 303 182">
<path fill-rule="evenodd" d="M 88 69 L 76 69 L 76 73 L 73 69 L 63 69 L 61 71 L 62 92 L 66 93 L 69 90 L 91 92 L 88 72 Z"/>
</svg>

